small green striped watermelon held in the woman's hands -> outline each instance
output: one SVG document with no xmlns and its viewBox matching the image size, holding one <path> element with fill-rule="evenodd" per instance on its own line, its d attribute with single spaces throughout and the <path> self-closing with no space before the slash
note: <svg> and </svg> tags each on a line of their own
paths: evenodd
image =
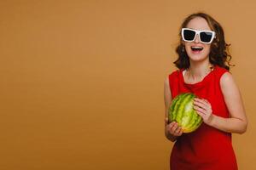
<svg viewBox="0 0 256 170">
<path fill-rule="evenodd" d="M 200 127 L 202 118 L 194 110 L 195 94 L 179 94 L 172 100 L 169 107 L 169 122 L 177 122 L 183 133 L 191 133 Z"/>
</svg>

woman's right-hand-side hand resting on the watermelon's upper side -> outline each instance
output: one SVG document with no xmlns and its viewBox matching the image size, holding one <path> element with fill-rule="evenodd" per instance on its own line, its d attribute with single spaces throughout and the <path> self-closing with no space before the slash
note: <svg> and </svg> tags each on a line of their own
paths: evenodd
<svg viewBox="0 0 256 170">
<path fill-rule="evenodd" d="M 194 109 L 207 125 L 212 124 L 212 105 L 207 99 L 194 99 Z"/>
</svg>

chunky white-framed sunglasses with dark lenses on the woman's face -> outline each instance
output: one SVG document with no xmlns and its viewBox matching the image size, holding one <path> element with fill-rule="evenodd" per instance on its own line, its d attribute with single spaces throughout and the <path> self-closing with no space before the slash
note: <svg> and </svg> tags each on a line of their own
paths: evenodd
<svg viewBox="0 0 256 170">
<path fill-rule="evenodd" d="M 194 42 L 196 35 L 199 35 L 200 42 L 211 43 L 215 38 L 215 31 L 193 30 L 190 28 L 182 28 L 182 37 L 184 42 Z"/>
</svg>

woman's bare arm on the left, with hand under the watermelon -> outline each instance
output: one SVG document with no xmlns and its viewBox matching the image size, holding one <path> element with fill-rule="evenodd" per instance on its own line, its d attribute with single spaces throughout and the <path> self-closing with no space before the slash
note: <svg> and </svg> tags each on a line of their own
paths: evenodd
<svg viewBox="0 0 256 170">
<path fill-rule="evenodd" d="M 181 127 L 177 126 L 176 122 L 171 122 L 168 124 L 168 109 L 172 104 L 172 94 L 169 86 L 169 77 L 166 77 L 165 85 L 164 85 L 164 100 L 165 100 L 165 134 L 166 138 L 174 142 L 178 136 L 180 136 L 183 132 Z"/>
</svg>

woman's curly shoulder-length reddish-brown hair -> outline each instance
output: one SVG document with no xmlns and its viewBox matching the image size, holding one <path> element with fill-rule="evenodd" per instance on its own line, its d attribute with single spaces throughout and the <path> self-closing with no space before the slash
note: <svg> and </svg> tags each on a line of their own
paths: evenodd
<svg viewBox="0 0 256 170">
<path fill-rule="evenodd" d="M 189 68 L 189 56 L 184 50 L 183 47 L 183 40 L 181 36 L 181 29 L 183 27 L 186 27 L 190 20 L 195 19 L 196 17 L 201 17 L 205 20 L 207 20 L 207 23 L 212 31 L 216 32 L 216 38 L 211 43 L 211 51 L 209 54 L 209 60 L 212 65 L 218 65 L 220 67 L 223 67 L 227 70 L 230 70 L 230 59 L 232 58 L 229 53 L 229 47 L 230 44 L 227 44 L 224 40 L 224 30 L 222 26 L 218 23 L 218 21 L 214 20 L 212 16 L 205 13 L 195 13 L 190 14 L 185 20 L 183 20 L 183 24 L 180 27 L 179 31 L 179 37 L 180 41 L 176 48 L 176 53 L 178 54 L 178 58 L 173 63 L 177 66 L 179 69 L 187 69 Z"/>
</svg>

